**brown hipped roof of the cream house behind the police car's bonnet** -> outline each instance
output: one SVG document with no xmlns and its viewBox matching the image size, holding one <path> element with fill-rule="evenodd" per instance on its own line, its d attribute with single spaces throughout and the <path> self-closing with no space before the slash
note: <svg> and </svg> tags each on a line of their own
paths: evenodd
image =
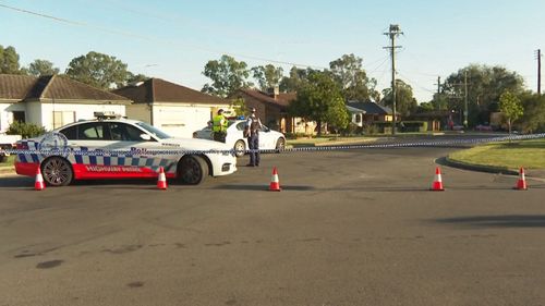
<svg viewBox="0 0 545 306">
<path fill-rule="evenodd" d="M 226 99 L 203 94 L 195 89 L 167 82 L 161 78 L 149 78 L 136 86 L 126 86 L 114 94 L 128 97 L 135 103 L 150 102 L 178 102 L 178 103 L 204 103 L 204 105 L 229 105 Z"/>
</svg>

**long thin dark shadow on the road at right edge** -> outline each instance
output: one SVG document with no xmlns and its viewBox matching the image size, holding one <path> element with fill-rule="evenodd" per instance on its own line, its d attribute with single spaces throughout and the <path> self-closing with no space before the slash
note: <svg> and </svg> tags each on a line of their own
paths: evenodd
<svg viewBox="0 0 545 306">
<path fill-rule="evenodd" d="M 434 220 L 437 223 L 472 228 L 545 228 L 543 215 L 473 216 Z"/>
</svg>

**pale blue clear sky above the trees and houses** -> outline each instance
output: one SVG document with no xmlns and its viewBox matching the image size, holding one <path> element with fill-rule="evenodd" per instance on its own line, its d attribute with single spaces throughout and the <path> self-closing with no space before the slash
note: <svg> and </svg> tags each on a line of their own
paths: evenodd
<svg viewBox="0 0 545 306">
<path fill-rule="evenodd" d="M 326 69 L 353 53 L 382 90 L 391 82 L 384 33 L 397 24 L 397 78 L 426 102 L 437 77 L 470 64 L 504 66 L 536 91 L 544 14 L 543 0 L 0 0 L 0 45 L 13 46 L 22 66 L 43 59 L 64 72 L 96 51 L 196 90 L 222 54 L 288 75 L 293 64 Z"/>
</svg>

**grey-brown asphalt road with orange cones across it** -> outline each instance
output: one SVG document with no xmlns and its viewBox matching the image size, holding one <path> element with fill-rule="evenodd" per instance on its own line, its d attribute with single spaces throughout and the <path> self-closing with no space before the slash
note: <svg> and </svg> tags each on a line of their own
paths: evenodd
<svg viewBox="0 0 545 306">
<path fill-rule="evenodd" d="M 545 183 L 441 168 L 428 191 L 450 150 L 264 155 L 167 191 L 0 178 L 0 305 L 545 304 Z"/>
</svg>

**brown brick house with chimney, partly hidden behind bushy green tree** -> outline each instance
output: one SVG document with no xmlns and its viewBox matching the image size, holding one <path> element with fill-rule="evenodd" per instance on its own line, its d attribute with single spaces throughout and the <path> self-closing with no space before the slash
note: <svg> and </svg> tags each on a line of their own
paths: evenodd
<svg viewBox="0 0 545 306">
<path fill-rule="evenodd" d="M 267 93 L 257 89 L 239 89 L 231 96 L 244 100 L 247 108 L 255 108 L 262 122 L 282 133 L 313 134 L 315 122 L 288 114 L 288 106 L 296 98 L 296 93 L 279 93 L 278 87 Z"/>
</svg>

